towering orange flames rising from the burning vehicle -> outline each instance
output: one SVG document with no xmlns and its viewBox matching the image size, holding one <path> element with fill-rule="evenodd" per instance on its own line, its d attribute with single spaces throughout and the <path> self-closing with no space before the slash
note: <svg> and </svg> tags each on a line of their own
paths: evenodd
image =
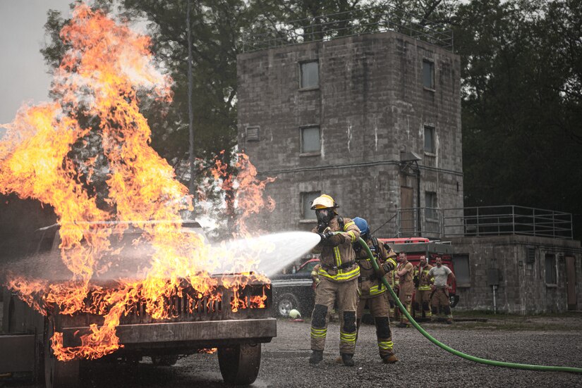
<svg viewBox="0 0 582 388">
<path fill-rule="evenodd" d="M 60 360 L 99 358 L 119 349 L 116 326 L 138 303 L 154 319 L 171 316 L 168 301 L 183 296 L 183 287 L 195 289 L 189 308 L 204 300 L 207 308 L 222 295 L 218 280 L 209 273 L 224 263 L 196 233 L 182 233 L 181 211 L 192 210 L 188 189 L 174 177 L 174 170 L 150 146 L 150 127 L 138 109 L 138 91 L 171 101 L 171 79 L 154 65 L 150 39 L 116 23 L 101 11 L 83 4 L 73 11 L 61 30 L 68 46 L 54 75 L 56 101 L 24 106 L 16 119 L 5 125 L 0 142 L 0 192 L 16 192 L 50 204 L 60 226 L 61 258 L 71 271 L 65 282 L 12 276 L 8 287 L 20 292 L 30 306 L 46 313 L 95 313 L 104 317 L 80 337 L 81 345 L 64 347 L 62 333 L 52 338 Z M 258 181 L 256 170 L 244 155 L 238 156 L 237 221 L 248 234 L 244 220 L 274 203 L 262 202 L 262 189 L 270 180 Z M 217 171 L 220 170 L 217 165 Z M 227 189 L 233 178 L 217 173 Z M 106 188 L 99 184 L 105 183 Z M 135 220 L 169 220 L 142 222 Z M 105 256 L 116 253 L 111 240 L 128 227 L 143 230 L 140 243 L 152 246 L 153 254 L 141 280 L 98 287 L 92 279 L 107 271 Z M 239 258 L 240 259 L 240 258 Z M 234 262 L 234 271 L 253 268 Z M 240 268 L 239 268 L 240 267 Z M 242 298 L 238 290 L 255 275 L 222 280 L 234 290 L 229 301 L 233 311 L 262 308 L 266 296 Z M 186 284 L 185 284 L 186 283 Z M 87 303 L 90 295 L 90 303 Z"/>
</svg>

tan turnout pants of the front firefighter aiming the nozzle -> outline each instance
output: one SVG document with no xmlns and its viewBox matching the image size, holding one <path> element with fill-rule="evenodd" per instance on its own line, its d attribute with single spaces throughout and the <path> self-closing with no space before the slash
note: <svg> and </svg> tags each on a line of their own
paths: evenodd
<svg viewBox="0 0 582 388">
<path fill-rule="evenodd" d="M 321 278 L 315 293 L 315 307 L 311 315 L 311 350 L 325 349 L 327 313 L 337 301 L 339 315 L 339 352 L 353 354 L 356 347 L 356 306 L 358 305 L 358 278 L 347 282 L 332 282 Z"/>
</svg>

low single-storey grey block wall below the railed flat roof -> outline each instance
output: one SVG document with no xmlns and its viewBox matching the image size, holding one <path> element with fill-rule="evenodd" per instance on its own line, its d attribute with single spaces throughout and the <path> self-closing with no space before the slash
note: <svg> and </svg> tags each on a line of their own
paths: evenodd
<svg viewBox="0 0 582 388">
<path fill-rule="evenodd" d="M 575 278 L 582 279 L 581 246 L 573 240 L 528 236 L 461 237 L 450 239 L 456 254 L 467 254 L 471 285 L 457 288 L 456 308 L 493 310 L 492 287 L 487 270 L 499 270 L 497 311 L 505 313 L 552 313 L 568 309 L 565 256 L 574 256 Z M 535 262 L 528 264 L 528 248 L 535 249 Z M 545 283 L 545 254 L 557 258 L 557 284 Z M 576 309 L 582 308 L 582 284 L 576 281 Z"/>
</svg>

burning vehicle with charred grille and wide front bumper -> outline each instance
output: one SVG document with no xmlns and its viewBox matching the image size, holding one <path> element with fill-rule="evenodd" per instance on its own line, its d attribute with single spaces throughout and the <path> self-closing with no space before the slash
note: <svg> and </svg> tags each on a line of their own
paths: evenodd
<svg viewBox="0 0 582 388">
<path fill-rule="evenodd" d="M 102 280 L 83 289 L 83 305 L 75 312 L 70 312 L 71 306 L 49 301 L 54 299 L 55 284 L 66 287 L 66 280 L 54 279 L 63 268 L 55 268 L 51 260 L 60 256 L 60 227 L 37 230 L 30 246 L 44 277 L 51 277 L 51 286 L 37 288 L 37 292 L 47 293 L 40 298 L 46 305 L 37 309 L 4 289 L 2 325 L 7 335 L 0 336 L 0 373 L 28 372 L 39 380 L 44 375 L 46 387 L 75 387 L 80 365 L 87 362 L 84 358 L 135 362 L 149 356 L 157 365 L 173 365 L 178 356 L 217 348 L 226 382 L 253 382 L 260 367 L 261 343 L 277 335 L 276 320 L 271 318 L 270 284 L 253 273 L 210 275 L 204 280 L 162 277 L 155 280 L 161 282 L 157 284 L 161 292 L 153 295 L 159 300 L 153 300 L 147 290 L 151 284 L 135 279 L 144 255 L 151 255 L 144 248 L 147 241 L 139 242 L 144 231 L 121 225 L 121 230 L 120 224 L 92 225 L 118 228 L 111 233 L 116 251 L 102 258 L 112 264 L 104 270 Z M 184 222 L 177 233 L 203 237 L 200 225 L 193 222 Z M 18 280 L 11 285 L 16 288 L 15 282 Z M 166 316 L 159 317 L 159 313 Z M 104 323 L 111 316 L 116 325 L 107 330 Z M 15 358 L 15 354 L 21 356 Z"/>
</svg>

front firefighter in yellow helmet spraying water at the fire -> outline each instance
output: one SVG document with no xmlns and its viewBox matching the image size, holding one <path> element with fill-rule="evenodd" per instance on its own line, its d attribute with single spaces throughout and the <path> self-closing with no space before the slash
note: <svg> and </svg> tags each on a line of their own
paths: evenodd
<svg viewBox="0 0 582 388">
<path fill-rule="evenodd" d="M 360 230 L 350 218 L 341 217 L 339 206 L 331 196 L 323 194 L 312 203 L 317 216 L 317 227 L 312 232 L 321 237 L 315 247 L 321 251 L 320 282 L 315 293 L 315 307 L 311 317 L 312 364 L 323 359 L 327 334 L 327 313 L 337 303 L 339 314 L 339 353 L 346 366 L 353 366 L 356 348 L 356 307 L 358 306 L 358 276 L 360 267 L 352 244 L 360 237 Z"/>
</svg>

